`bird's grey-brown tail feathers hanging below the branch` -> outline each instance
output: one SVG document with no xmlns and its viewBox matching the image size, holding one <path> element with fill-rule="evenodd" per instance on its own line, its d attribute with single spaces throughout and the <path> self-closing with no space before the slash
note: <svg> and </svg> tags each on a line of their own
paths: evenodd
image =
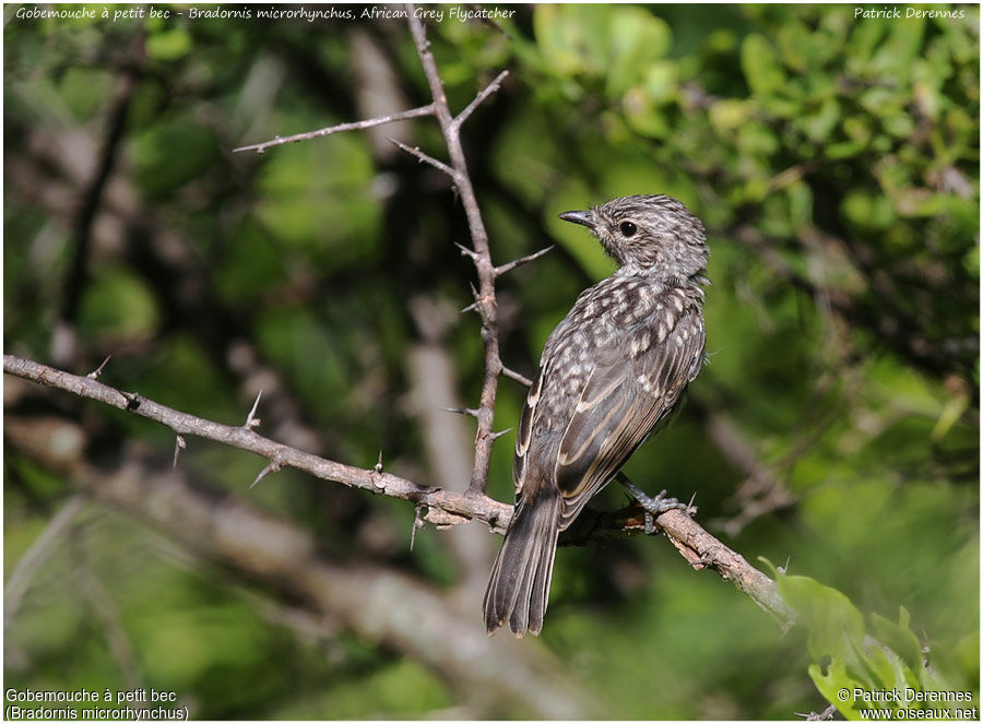
<svg viewBox="0 0 983 724">
<path fill-rule="evenodd" d="M 489 636 L 506 620 L 520 638 L 543 629 L 561 509 L 557 490 L 541 490 L 517 506 L 485 591 Z"/>
</svg>

